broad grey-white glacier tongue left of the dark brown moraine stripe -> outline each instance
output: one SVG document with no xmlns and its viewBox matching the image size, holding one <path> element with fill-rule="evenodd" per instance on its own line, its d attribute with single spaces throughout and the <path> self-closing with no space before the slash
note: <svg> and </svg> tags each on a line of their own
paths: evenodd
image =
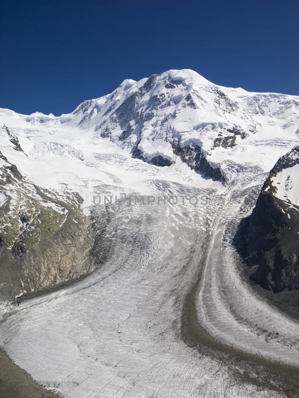
<svg viewBox="0 0 299 398">
<path fill-rule="evenodd" d="M 110 172 L 120 178 L 118 162 L 124 159 L 117 154 L 97 159 L 100 165 L 110 164 Z M 140 160 L 125 164 L 128 173 L 139 173 L 141 193 L 204 200 L 198 206 L 185 199 L 184 204 L 122 200 L 94 207 L 99 230 L 105 227 L 100 250 L 108 250 L 107 260 L 80 283 L 25 301 L 4 316 L 0 336 L 5 349 L 35 380 L 66 397 L 284 397 L 262 382 L 252 383 L 255 370 L 242 361 L 236 376 L 230 356 L 211 355 L 209 349 L 184 341 L 185 296 L 204 264 L 220 183 L 187 170 L 182 183 L 180 169 L 173 166 L 155 174 L 154 166 Z M 100 184 L 99 189 L 108 193 L 115 188 Z M 213 325 L 215 316 L 217 312 Z M 189 327 L 196 329 L 192 323 Z M 226 333 L 237 336 L 234 328 Z M 265 341 L 260 346 L 266 355 L 275 355 Z M 290 352 L 298 357 L 291 348 L 285 356 Z M 242 380 L 244 371 L 251 376 Z"/>
</svg>

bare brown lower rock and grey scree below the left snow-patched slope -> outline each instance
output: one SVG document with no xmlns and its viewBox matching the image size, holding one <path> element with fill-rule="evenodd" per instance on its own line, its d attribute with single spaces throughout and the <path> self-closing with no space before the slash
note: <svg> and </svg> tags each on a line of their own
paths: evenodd
<svg viewBox="0 0 299 398">
<path fill-rule="evenodd" d="M 0 300 L 12 299 L 23 291 L 56 285 L 95 269 L 89 221 L 80 211 L 69 214 L 57 232 L 19 257 L 13 256 L 4 246 L 0 248 Z M 78 220 L 77 224 L 71 217 Z"/>
</svg>

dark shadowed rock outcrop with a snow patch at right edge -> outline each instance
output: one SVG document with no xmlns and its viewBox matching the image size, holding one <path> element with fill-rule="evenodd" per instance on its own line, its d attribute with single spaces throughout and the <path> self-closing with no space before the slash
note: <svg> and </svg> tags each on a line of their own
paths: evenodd
<svg viewBox="0 0 299 398">
<path fill-rule="evenodd" d="M 248 227 L 253 278 L 274 292 L 299 289 L 299 146 L 282 156 L 264 183 Z"/>
</svg>

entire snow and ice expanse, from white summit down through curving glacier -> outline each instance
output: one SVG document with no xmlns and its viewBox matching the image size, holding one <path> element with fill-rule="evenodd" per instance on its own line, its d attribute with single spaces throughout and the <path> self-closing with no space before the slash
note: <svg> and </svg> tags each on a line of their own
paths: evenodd
<svg viewBox="0 0 299 398">
<path fill-rule="evenodd" d="M 17 365 L 69 398 L 298 396 L 299 323 L 256 295 L 232 240 L 299 142 L 299 97 L 169 70 L 61 116 L 0 109 L 0 123 L 22 148 L 2 129 L 1 153 L 28 181 L 82 197 L 102 261 L 3 311 L 0 344 Z M 96 205 L 100 194 L 118 201 Z"/>
</svg>

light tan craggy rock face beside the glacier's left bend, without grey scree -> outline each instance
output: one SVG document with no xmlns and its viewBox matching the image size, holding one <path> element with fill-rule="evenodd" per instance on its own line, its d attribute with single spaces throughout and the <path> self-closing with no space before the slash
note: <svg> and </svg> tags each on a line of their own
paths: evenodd
<svg viewBox="0 0 299 398">
<path fill-rule="evenodd" d="M 87 219 L 80 211 L 69 208 L 63 226 L 20 258 L 24 283 L 27 281 L 30 288 L 47 287 L 93 271 L 96 265 L 90 255 L 90 234 Z"/>
</svg>

